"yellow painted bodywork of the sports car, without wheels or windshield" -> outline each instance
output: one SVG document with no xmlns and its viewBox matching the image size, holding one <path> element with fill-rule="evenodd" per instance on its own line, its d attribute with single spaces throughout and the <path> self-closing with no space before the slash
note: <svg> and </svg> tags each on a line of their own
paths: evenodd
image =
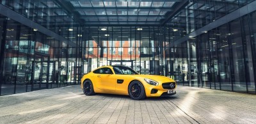
<svg viewBox="0 0 256 124">
<path fill-rule="evenodd" d="M 113 74 L 95 74 L 92 72 L 83 75 L 81 79 L 81 88 L 83 89 L 83 82 L 86 79 L 90 79 L 93 84 L 93 89 L 95 93 L 109 93 L 116 95 L 129 95 L 128 94 L 128 86 L 132 81 L 140 81 L 145 88 L 145 93 L 147 97 L 160 97 L 164 92 L 167 92 L 168 89 L 164 89 L 162 84 L 164 82 L 175 82 L 173 79 L 169 77 L 164 77 L 161 75 L 124 75 L 124 74 L 115 74 L 113 70 L 113 66 L 101 66 L 100 68 L 111 68 Z M 97 68 L 99 69 L 99 68 Z M 97 70 L 95 69 L 95 70 Z M 122 84 L 118 84 L 116 81 L 118 79 L 124 80 Z M 148 84 L 144 79 L 151 79 L 159 84 L 157 86 Z M 176 90 L 176 82 L 175 88 L 172 90 Z M 151 93 L 152 89 L 157 89 L 157 93 Z"/>
</svg>

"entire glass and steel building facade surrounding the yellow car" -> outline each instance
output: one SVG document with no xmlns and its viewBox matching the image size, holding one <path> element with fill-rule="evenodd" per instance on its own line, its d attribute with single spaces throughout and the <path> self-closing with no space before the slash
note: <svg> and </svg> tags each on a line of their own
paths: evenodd
<svg viewBox="0 0 256 124">
<path fill-rule="evenodd" d="M 256 93 L 256 1 L 0 2 L 0 95 L 79 84 L 104 65 Z"/>
</svg>

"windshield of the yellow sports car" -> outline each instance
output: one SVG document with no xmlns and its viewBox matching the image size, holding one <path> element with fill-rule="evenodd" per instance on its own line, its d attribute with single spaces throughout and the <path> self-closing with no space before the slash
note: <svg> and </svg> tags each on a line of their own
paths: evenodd
<svg viewBox="0 0 256 124">
<path fill-rule="evenodd" d="M 113 70 L 115 71 L 115 74 L 120 75 L 138 75 L 137 72 L 132 70 L 132 68 L 129 68 L 127 66 L 113 66 Z"/>
</svg>

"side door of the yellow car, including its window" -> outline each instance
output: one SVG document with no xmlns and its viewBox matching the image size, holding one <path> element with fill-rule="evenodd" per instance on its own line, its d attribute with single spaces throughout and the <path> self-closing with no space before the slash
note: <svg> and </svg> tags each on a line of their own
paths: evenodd
<svg viewBox="0 0 256 124">
<path fill-rule="evenodd" d="M 105 93 L 112 93 L 116 89 L 115 79 L 110 68 L 100 68 L 97 78 L 99 78 L 99 89 L 103 89 Z"/>
</svg>

